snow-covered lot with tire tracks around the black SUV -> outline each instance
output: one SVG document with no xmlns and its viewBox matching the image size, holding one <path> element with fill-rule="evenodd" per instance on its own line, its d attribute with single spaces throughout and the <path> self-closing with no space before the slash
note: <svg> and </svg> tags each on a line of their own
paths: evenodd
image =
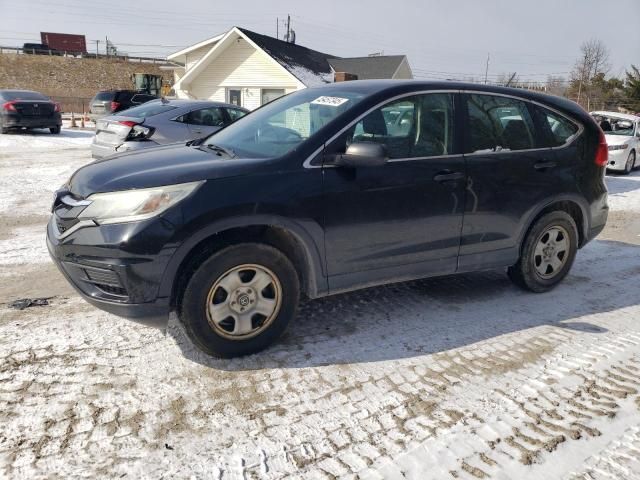
<svg viewBox="0 0 640 480">
<path fill-rule="evenodd" d="M 0 136 L 0 478 L 640 478 L 640 172 L 608 177 L 610 222 L 553 292 L 501 272 L 372 288 L 213 360 L 49 262 L 51 192 L 89 141 Z"/>
</svg>

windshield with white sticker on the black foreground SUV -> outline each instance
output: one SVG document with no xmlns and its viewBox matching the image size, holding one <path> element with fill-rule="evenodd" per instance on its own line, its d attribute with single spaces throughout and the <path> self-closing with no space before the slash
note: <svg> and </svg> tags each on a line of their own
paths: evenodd
<svg viewBox="0 0 640 480">
<path fill-rule="evenodd" d="M 203 143 L 244 158 L 285 155 L 364 98 L 363 93 L 351 90 L 332 88 L 329 92 L 309 89 L 280 97 Z"/>
</svg>

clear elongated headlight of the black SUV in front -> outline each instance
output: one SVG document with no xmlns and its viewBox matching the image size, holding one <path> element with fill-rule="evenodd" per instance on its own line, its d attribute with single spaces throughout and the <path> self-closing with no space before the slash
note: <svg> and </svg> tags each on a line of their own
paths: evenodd
<svg viewBox="0 0 640 480">
<path fill-rule="evenodd" d="M 78 218 L 95 220 L 99 224 L 144 220 L 161 214 L 185 199 L 203 183 L 95 193 L 87 198 L 91 204 L 78 215 Z"/>
</svg>

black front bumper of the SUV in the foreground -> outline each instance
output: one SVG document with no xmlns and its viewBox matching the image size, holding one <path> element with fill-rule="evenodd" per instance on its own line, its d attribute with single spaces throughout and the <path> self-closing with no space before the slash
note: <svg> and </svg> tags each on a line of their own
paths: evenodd
<svg viewBox="0 0 640 480">
<path fill-rule="evenodd" d="M 173 226 L 153 219 L 89 226 L 60 239 L 52 215 L 47 225 L 49 254 L 67 281 L 95 307 L 133 321 L 166 328 L 170 298 L 158 296 L 174 248 L 162 239 Z"/>
</svg>

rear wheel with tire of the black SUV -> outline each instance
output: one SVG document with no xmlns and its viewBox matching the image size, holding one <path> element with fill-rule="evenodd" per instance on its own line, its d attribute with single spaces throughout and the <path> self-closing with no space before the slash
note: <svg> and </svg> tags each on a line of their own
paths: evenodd
<svg viewBox="0 0 640 480">
<path fill-rule="evenodd" d="M 529 230 L 518 263 L 509 267 L 509 278 L 532 292 L 546 292 L 567 276 L 578 249 L 578 230 L 566 212 L 539 218 Z"/>
</svg>

